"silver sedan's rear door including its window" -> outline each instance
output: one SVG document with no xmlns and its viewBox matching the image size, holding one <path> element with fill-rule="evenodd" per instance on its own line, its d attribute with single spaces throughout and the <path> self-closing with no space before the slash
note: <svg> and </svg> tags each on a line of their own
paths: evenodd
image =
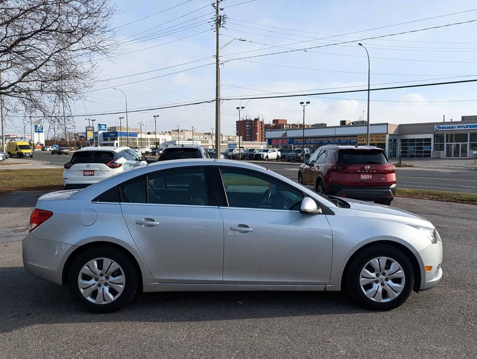
<svg viewBox="0 0 477 359">
<path fill-rule="evenodd" d="M 222 283 L 224 230 L 207 167 L 143 175 L 121 185 L 121 210 L 154 279 Z"/>
</svg>

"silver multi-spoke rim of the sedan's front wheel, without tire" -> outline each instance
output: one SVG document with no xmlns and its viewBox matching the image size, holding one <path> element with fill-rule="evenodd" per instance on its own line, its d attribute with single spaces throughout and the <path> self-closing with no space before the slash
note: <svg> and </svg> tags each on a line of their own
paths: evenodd
<svg viewBox="0 0 477 359">
<path fill-rule="evenodd" d="M 394 300 L 404 290 L 405 273 L 401 265 L 389 257 L 371 259 L 361 269 L 359 285 L 371 301 L 386 303 Z"/>
</svg>

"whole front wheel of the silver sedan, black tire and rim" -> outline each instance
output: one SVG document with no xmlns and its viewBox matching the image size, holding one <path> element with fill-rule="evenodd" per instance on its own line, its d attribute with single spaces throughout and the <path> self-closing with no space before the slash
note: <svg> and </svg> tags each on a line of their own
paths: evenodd
<svg viewBox="0 0 477 359">
<path fill-rule="evenodd" d="M 366 309 L 397 308 L 413 290 L 414 270 L 411 261 L 401 250 L 391 245 L 365 247 L 353 257 L 347 268 L 344 274 L 348 294 Z"/>
</svg>

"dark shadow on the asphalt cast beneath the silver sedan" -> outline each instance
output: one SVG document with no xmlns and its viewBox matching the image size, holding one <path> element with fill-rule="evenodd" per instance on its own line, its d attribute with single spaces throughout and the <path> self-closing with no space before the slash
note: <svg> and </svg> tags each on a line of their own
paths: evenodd
<svg viewBox="0 0 477 359">
<path fill-rule="evenodd" d="M 164 292 L 143 294 L 115 313 L 95 314 L 77 304 L 66 287 L 34 277 L 23 267 L 0 268 L 0 278 L 0 333 L 98 320 L 182 322 L 365 312 L 332 292 Z"/>
</svg>

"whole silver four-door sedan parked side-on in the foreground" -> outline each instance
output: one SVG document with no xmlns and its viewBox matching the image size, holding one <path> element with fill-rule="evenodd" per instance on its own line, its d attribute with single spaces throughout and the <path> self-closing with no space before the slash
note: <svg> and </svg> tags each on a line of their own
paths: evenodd
<svg viewBox="0 0 477 359">
<path fill-rule="evenodd" d="M 39 198 L 23 240 L 34 275 L 99 312 L 138 291 L 339 291 L 389 310 L 442 277 L 434 226 L 318 195 L 260 166 L 177 160 Z"/>
</svg>

